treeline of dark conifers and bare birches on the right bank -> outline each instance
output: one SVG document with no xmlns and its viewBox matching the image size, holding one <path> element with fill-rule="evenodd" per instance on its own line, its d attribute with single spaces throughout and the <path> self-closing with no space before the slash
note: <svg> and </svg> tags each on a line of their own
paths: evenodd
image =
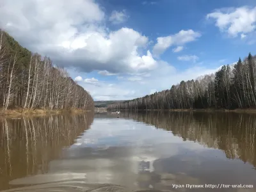
<svg viewBox="0 0 256 192">
<path fill-rule="evenodd" d="M 108 106 L 110 110 L 256 108 L 256 56 L 223 65 L 216 74 L 181 81 L 170 90 Z"/>
</svg>

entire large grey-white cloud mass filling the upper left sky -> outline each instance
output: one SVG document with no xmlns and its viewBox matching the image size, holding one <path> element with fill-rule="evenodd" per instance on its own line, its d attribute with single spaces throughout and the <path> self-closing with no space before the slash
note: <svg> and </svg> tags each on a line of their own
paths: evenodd
<svg viewBox="0 0 256 192">
<path fill-rule="evenodd" d="M 3 0 L 0 17 L 0 28 L 61 67 L 114 74 L 152 70 L 157 65 L 145 50 L 147 36 L 131 28 L 109 31 L 106 15 L 94 0 Z"/>
</svg>

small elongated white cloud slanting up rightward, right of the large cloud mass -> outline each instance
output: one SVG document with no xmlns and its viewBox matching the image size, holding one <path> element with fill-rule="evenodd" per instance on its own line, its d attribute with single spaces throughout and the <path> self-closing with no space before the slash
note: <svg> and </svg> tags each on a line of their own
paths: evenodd
<svg viewBox="0 0 256 192">
<path fill-rule="evenodd" d="M 201 36 L 200 33 L 189 29 L 188 31 L 181 30 L 175 35 L 161 36 L 157 38 L 157 44 L 154 45 L 153 52 L 156 55 L 162 54 L 172 45 L 184 45 L 188 42 L 193 42 Z"/>
</svg>

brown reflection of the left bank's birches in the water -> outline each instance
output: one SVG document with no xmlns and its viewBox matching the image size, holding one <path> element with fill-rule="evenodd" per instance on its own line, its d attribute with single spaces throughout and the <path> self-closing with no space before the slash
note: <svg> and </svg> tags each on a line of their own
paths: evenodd
<svg viewBox="0 0 256 192">
<path fill-rule="evenodd" d="M 49 162 L 92 124 L 93 115 L 0 119 L 0 190 L 12 179 L 49 171 Z"/>
</svg>

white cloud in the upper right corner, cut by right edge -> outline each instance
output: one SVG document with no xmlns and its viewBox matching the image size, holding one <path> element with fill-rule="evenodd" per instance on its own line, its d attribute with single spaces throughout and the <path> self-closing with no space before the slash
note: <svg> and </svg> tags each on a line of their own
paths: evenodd
<svg viewBox="0 0 256 192">
<path fill-rule="evenodd" d="M 209 13 L 207 19 L 216 20 L 215 26 L 230 36 L 236 37 L 241 33 L 246 35 L 256 28 L 256 7 L 243 6 L 236 9 L 216 10 Z"/>
</svg>

